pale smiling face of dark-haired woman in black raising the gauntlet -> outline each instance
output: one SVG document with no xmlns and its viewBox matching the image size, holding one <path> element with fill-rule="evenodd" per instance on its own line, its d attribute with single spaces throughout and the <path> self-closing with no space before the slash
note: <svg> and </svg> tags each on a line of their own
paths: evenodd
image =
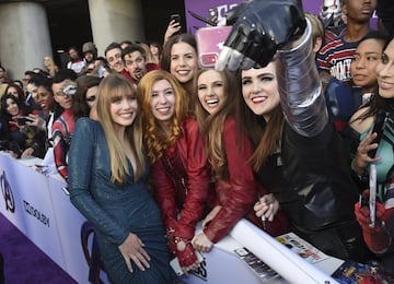
<svg viewBox="0 0 394 284">
<path fill-rule="evenodd" d="M 276 67 L 270 62 L 265 68 L 243 70 L 242 95 L 246 105 L 258 116 L 269 120 L 271 111 L 279 105 Z"/>
</svg>

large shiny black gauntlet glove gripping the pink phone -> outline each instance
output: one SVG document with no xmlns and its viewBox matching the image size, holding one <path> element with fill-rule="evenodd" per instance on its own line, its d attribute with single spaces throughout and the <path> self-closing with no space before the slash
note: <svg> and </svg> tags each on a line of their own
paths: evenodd
<svg viewBox="0 0 394 284">
<path fill-rule="evenodd" d="M 244 2 L 228 12 L 227 22 L 233 27 L 218 58 L 218 70 L 267 66 L 306 25 L 301 0 Z"/>
</svg>

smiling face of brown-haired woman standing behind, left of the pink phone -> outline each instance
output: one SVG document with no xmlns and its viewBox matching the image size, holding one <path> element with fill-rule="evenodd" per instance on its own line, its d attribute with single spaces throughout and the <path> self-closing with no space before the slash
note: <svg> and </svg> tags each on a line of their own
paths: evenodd
<svg viewBox="0 0 394 284">
<path fill-rule="evenodd" d="M 197 70 L 197 54 L 193 46 L 186 43 L 174 44 L 171 48 L 170 73 L 181 83 L 188 83 Z"/>
</svg>

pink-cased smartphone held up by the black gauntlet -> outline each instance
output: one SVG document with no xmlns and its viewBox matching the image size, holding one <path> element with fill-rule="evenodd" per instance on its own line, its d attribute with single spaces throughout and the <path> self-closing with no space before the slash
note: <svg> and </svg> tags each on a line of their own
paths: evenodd
<svg viewBox="0 0 394 284">
<path fill-rule="evenodd" d="M 201 67 L 215 67 L 231 28 L 231 26 L 210 26 L 197 29 L 195 37 Z"/>
</svg>

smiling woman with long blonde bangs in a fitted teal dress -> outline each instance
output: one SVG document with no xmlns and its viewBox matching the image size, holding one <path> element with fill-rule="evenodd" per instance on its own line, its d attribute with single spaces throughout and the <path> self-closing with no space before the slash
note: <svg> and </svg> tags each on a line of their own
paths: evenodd
<svg viewBox="0 0 394 284">
<path fill-rule="evenodd" d="M 82 117 L 76 123 L 70 200 L 94 225 L 112 283 L 171 283 L 160 211 L 146 186 L 136 88 L 121 75 L 108 75 L 96 107 L 97 121 Z"/>
</svg>

